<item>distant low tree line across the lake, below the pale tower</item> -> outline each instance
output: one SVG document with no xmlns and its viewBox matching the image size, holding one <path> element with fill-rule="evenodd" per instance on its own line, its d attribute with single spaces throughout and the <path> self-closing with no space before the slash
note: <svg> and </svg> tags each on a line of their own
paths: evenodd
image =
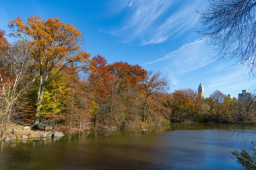
<svg viewBox="0 0 256 170">
<path fill-rule="evenodd" d="M 168 95 L 164 101 L 171 121 L 220 122 L 253 124 L 255 118 L 254 98 L 238 100 L 216 90 L 201 99 L 193 89 L 180 89 Z"/>
</svg>

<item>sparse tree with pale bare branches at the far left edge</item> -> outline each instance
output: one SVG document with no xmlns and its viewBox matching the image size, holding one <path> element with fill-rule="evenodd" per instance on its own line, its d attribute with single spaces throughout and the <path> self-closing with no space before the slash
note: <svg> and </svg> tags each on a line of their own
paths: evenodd
<svg viewBox="0 0 256 170">
<path fill-rule="evenodd" d="M 9 44 L 6 53 L 0 57 L 0 99 L 2 116 L 1 136 L 3 136 L 11 118 L 13 106 L 17 103 L 18 97 L 28 89 L 35 80 L 29 75 L 32 65 L 30 59 L 31 51 L 24 42 Z"/>
</svg>

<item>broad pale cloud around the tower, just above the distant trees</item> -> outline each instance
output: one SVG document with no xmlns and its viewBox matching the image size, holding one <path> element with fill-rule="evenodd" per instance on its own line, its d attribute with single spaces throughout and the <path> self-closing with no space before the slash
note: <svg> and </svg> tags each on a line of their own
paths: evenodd
<svg viewBox="0 0 256 170">
<path fill-rule="evenodd" d="M 232 60 L 214 58 L 216 51 L 205 40 L 195 40 L 162 58 L 144 63 L 144 67 L 159 65 L 173 89 L 195 87 L 202 82 L 209 96 L 217 89 L 237 97 L 242 89 L 256 89 L 256 79 L 248 76 L 246 68 L 234 65 Z"/>
</svg>

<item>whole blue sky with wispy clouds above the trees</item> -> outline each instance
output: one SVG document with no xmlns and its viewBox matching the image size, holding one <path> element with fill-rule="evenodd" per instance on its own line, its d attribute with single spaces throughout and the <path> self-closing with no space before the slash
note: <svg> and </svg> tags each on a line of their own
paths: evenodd
<svg viewBox="0 0 256 170">
<path fill-rule="evenodd" d="M 101 54 L 108 63 L 123 60 L 160 71 L 170 91 L 197 89 L 209 96 L 215 90 L 237 97 L 256 80 L 232 60 L 218 60 L 213 46 L 196 33 L 201 26 L 197 11 L 206 0 L 98 0 L 5 1 L 0 0 L 0 28 L 15 17 L 59 17 L 84 36 L 82 46 L 92 56 Z"/>
</svg>

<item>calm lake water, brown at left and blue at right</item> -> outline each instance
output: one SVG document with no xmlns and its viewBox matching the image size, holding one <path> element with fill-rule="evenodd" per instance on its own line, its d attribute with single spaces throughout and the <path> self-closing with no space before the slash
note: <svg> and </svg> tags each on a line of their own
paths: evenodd
<svg viewBox="0 0 256 170">
<path fill-rule="evenodd" d="M 241 169 L 230 153 L 250 149 L 253 127 L 173 124 L 141 130 L 1 142 L 0 169 Z"/>
</svg>

